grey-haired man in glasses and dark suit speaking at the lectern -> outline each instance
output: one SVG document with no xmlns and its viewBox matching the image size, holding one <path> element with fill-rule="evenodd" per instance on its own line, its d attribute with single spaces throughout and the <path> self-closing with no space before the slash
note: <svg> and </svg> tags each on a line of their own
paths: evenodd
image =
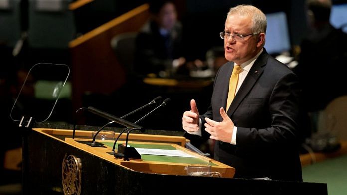
<svg viewBox="0 0 347 195">
<path fill-rule="evenodd" d="M 249 5 L 231 8 L 224 31 L 221 38 L 230 62 L 216 75 L 208 111 L 200 116 L 191 100 L 191 110 L 183 114 L 183 129 L 216 140 L 214 158 L 234 167 L 236 178 L 302 181 L 297 151 L 299 85 L 296 75 L 263 48 L 264 13 Z M 229 107 L 234 66 L 242 69 Z"/>
</svg>

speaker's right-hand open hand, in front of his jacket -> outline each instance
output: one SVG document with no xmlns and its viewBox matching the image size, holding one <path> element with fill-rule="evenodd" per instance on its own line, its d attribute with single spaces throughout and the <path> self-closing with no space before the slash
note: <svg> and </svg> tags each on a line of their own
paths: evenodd
<svg viewBox="0 0 347 195">
<path fill-rule="evenodd" d="M 234 130 L 234 123 L 231 121 L 229 116 L 225 113 L 224 108 L 219 109 L 220 115 L 223 121 L 216 122 L 209 118 L 205 118 L 205 130 L 211 134 L 210 139 L 219 140 L 223 142 L 230 143 L 232 132 Z"/>
</svg>

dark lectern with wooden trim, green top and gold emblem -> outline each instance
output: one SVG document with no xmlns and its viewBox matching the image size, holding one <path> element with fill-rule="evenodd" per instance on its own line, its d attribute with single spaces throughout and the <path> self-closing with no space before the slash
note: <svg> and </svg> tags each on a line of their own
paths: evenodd
<svg viewBox="0 0 347 195">
<path fill-rule="evenodd" d="M 233 167 L 187 150 L 184 137 L 130 134 L 134 147 L 181 150 L 194 157 L 142 155 L 141 160 L 124 161 L 108 154 L 113 141 L 97 140 L 105 147 L 79 142 L 90 141 L 91 134 L 77 130 L 72 139 L 72 130 L 30 130 L 23 142 L 24 194 L 327 194 L 327 184 L 234 179 Z M 193 163 L 211 164 L 222 177 L 186 175 L 185 166 Z"/>
</svg>

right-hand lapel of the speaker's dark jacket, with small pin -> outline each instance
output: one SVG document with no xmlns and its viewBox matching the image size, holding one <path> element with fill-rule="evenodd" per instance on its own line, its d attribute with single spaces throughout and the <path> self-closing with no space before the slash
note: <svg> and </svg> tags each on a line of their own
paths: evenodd
<svg viewBox="0 0 347 195">
<path fill-rule="evenodd" d="M 269 55 L 267 54 L 267 52 L 264 49 L 262 54 L 260 54 L 260 56 L 254 62 L 252 68 L 249 70 L 249 73 L 247 74 L 245 80 L 243 81 L 243 83 L 242 83 L 239 91 L 237 92 L 234 100 L 231 102 L 229 110 L 227 111 L 227 114 L 229 116 L 231 116 L 235 112 L 236 108 L 240 105 L 240 103 L 246 97 L 248 92 L 253 88 L 255 82 L 262 75 L 268 57 L 269 57 Z"/>
</svg>

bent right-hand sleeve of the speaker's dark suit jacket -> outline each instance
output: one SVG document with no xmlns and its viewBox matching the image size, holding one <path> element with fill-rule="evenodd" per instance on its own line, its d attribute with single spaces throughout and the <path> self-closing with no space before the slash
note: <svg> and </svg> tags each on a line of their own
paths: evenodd
<svg viewBox="0 0 347 195">
<path fill-rule="evenodd" d="M 295 74 L 289 73 L 280 78 L 269 98 L 271 127 L 238 127 L 236 153 L 248 154 L 296 144 L 299 129 L 299 92 Z"/>
</svg>

